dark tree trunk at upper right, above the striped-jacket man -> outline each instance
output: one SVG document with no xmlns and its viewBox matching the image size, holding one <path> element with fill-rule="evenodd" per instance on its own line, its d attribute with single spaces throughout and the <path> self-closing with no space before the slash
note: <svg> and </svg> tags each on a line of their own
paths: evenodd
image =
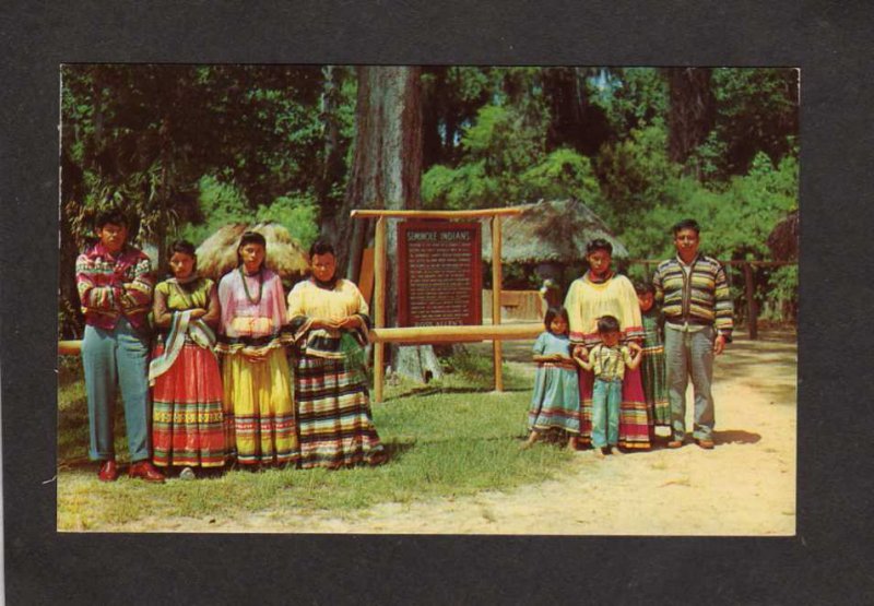
<svg viewBox="0 0 874 606">
<path fill-rule="evenodd" d="M 716 120 L 709 68 L 668 68 L 671 90 L 669 154 L 683 164 L 707 140 Z"/>
</svg>

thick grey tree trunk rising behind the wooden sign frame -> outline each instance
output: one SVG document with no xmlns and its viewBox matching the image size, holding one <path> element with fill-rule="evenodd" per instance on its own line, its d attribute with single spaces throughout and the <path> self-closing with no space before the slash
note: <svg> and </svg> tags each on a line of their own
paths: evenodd
<svg viewBox="0 0 874 606">
<path fill-rule="evenodd" d="M 357 139 L 342 217 L 352 209 L 417 209 L 422 179 L 422 86 L 420 68 L 359 67 L 356 106 Z M 364 229 L 361 221 L 341 218 L 338 257 L 345 266 L 350 242 Z M 350 225 L 352 223 L 353 225 Z M 354 230 L 358 230 L 356 235 Z M 387 237 L 387 325 L 397 325 L 398 236 L 392 223 Z M 369 236 L 369 235 L 368 235 Z M 429 345 L 390 350 L 399 375 L 425 381 L 438 378 L 440 366 Z"/>
</svg>

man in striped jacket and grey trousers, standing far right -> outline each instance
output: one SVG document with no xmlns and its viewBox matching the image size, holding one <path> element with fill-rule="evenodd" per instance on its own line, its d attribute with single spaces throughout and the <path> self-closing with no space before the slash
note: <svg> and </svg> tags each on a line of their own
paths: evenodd
<svg viewBox="0 0 874 606">
<path fill-rule="evenodd" d="M 673 227 L 676 257 L 662 261 L 652 277 L 656 300 L 664 313 L 664 356 L 673 436 L 669 448 L 680 448 L 686 435 L 686 387 L 695 389 L 693 438 L 702 449 L 713 448 L 713 356 L 731 342 L 733 306 L 725 270 L 719 261 L 698 253 L 700 227 L 695 219 Z"/>
</svg>

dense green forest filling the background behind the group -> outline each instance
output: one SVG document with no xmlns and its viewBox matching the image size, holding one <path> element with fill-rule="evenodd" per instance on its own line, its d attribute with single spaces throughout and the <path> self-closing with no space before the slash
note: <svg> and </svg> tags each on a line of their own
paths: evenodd
<svg viewBox="0 0 874 606">
<path fill-rule="evenodd" d="M 721 260 L 770 259 L 768 235 L 798 210 L 789 68 L 68 64 L 61 95 L 67 338 L 82 330 L 75 257 L 95 212 L 119 203 L 134 240 L 158 253 L 231 222 L 274 221 L 304 248 L 334 239 L 341 268 L 353 207 L 572 198 L 634 259 L 670 256 L 670 227 L 690 216 Z M 403 144 L 387 150 L 393 135 Z M 380 186 L 382 159 L 399 164 L 402 187 Z M 535 280 L 510 269 L 504 286 Z M 794 321 L 798 266 L 759 268 L 755 281 L 760 318 Z M 742 284 L 734 295 L 742 310 Z"/>
</svg>

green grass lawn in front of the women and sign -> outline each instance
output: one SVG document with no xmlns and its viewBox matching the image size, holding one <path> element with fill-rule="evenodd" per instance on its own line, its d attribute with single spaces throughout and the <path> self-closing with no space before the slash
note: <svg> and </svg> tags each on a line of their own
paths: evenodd
<svg viewBox="0 0 874 606">
<path fill-rule="evenodd" d="M 520 451 L 530 380 L 505 367 L 505 393 L 491 393 L 491 359 L 462 355 L 454 371 L 428 385 L 387 385 L 373 406 L 390 460 L 380 467 L 232 471 L 150 485 L 121 476 L 97 480 L 87 461 L 87 412 L 81 365 L 64 360 L 58 392 L 58 528 L 103 530 L 142 519 L 233 518 L 255 512 L 333 514 L 379 502 L 507 489 L 569 470 L 572 454 L 550 444 Z M 121 405 L 116 452 L 127 453 Z M 123 472 L 123 468 L 122 468 Z"/>
</svg>

